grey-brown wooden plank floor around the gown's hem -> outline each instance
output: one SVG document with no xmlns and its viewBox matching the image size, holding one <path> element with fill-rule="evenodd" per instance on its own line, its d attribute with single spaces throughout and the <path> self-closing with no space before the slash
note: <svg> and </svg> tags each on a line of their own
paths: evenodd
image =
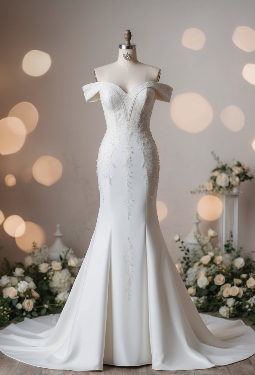
<svg viewBox="0 0 255 375">
<path fill-rule="evenodd" d="M 220 316 L 218 313 L 206 313 L 208 315 Z M 233 318 L 233 320 L 238 318 Z M 248 319 L 242 319 L 245 324 L 251 325 Z M 2 327 L 3 328 L 3 327 Z M 0 375 L 255 375 L 255 354 L 248 359 L 232 363 L 227 366 L 219 366 L 201 370 L 185 371 L 159 371 L 153 370 L 152 365 L 120 367 L 103 365 L 103 371 L 69 371 L 51 370 L 35 366 L 26 365 L 5 356 L 0 351 Z"/>
</svg>

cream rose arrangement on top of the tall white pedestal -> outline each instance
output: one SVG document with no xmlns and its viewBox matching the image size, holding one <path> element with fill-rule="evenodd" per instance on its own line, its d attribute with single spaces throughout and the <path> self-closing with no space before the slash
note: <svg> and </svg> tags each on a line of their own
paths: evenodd
<svg viewBox="0 0 255 375">
<path fill-rule="evenodd" d="M 254 176 L 250 172 L 247 164 L 242 164 L 240 161 L 233 159 L 233 166 L 230 167 L 227 163 L 223 164 L 219 157 L 212 151 L 213 159 L 216 160 L 217 165 L 212 170 L 206 185 L 199 185 L 198 188 L 191 190 L 191 194 L 196 193 L 225 193 L 238 189 L 240 183 L 246 180 L 252 180 Z"/>
</svg>

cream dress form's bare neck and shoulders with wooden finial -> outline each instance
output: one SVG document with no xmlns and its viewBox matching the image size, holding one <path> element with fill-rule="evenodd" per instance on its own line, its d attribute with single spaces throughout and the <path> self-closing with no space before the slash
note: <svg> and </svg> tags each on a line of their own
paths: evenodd
<svg viewBox="0 0 255 375">
<path fill-rule="evenodd" d="M 155 66 L 141 63 L 137 60 L 136 44 L 130 43 L 130 30 L 126 30 L 124 37 L 126 43 L 119 45 L 119 57 L 114 63 L 94 69 L 96 81 L 108 81 L 117 84 L 127 94 L 138 84 L 147 81 L 159 82 L 160 69 Z M 129 54 L 123 57 L 123 54 Z"/>
</svg>

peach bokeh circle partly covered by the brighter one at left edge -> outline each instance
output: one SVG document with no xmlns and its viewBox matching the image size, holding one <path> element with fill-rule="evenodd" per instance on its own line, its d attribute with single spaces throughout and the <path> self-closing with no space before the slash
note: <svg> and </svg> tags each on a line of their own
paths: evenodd
<svg viewBox="0 0 255 375">
<path fill-rule="evenodd" d="M 27 133 L 30 133 L 34 130 L 39 118 L 36 107 L 30 102 L 20 102 L 16 104 L 10 110 L 8 116 L 20 118 L 25 125 Z"/>
</svg>

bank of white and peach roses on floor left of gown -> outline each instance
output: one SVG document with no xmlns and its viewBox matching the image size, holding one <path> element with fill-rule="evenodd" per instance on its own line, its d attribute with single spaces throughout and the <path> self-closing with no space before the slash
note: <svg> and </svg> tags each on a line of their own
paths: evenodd
<svg viewBox="0 0 255 375">
<path fill-rule="evenodd" d="M 9 320 L 56 314 L 62 311 L 82 265 L 72 249 L 59 261 L 49 261 L 47 246 L 37 248 L 13 266 L 4 258 L 0 278 L 0 326 Z M 75 272 L 76 271 L 76 272 Z"/>
</svg>

